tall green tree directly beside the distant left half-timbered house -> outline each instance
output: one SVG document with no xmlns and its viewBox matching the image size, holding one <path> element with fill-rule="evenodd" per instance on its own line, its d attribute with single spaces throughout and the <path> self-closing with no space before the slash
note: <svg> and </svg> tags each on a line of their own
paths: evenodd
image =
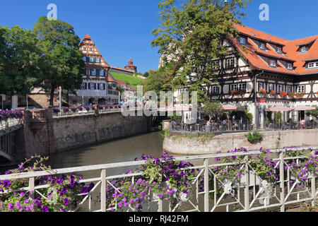
<svg viewBox="0 0 318 226">
<path fill-rule="evenodd" d="M 85 62 L 78 48 L 80 38 L 69 23 L 48 20 L 42 16 L 33 27 L 38 47 L 45 54 L 45 68 L 41 88 L 50 93 L 49 105 L 53 105 L 54 91 L 61 86 L 67 93 L 75 93 L 83 83 Z"/>
</svg>

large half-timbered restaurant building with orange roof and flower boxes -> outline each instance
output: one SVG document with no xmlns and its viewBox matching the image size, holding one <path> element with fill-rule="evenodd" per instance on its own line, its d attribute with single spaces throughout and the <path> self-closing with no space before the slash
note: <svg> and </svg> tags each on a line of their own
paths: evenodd
<svg viewBox="0 0 318 226">
<path fill-rule="evenodd" d="M 267 108 L 318 105 L 318 35 L 286 40 L 243 25 L 235 28 L 240 36 L 221 43 L 237 51 L 215 60 L 220 85 L 206 85 L 211 100 L 245 106 L 258 127 L 266 124 Z M 175 91 L 176 98 L 182 90 Z M 307 118 L 305 111 L 282 113 L 285 120 Z"/>
</svg>

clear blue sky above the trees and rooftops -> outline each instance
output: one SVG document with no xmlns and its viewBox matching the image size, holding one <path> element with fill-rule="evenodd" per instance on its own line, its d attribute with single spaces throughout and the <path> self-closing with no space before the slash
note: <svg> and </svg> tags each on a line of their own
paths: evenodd
<svg viewBox="0 0 318 226">
<path fill-rule="evenodd" d="M 111 66 L 124 68 L 131 58 L 141 73 L 158 69 L 159 54 L 158 49 L 151 48 L 151 31 L 159 25 L 159 0 L 1 1 L 1 26 L 32 29 L 40 16 L 47 16 L 47 5 L 56 4 L 57 17 L 73 25 L 80 38 L 89 34 Z M 269 5 L 269 21 L 259 20 L 260 4 Z M 242 22 L 294 40 L 318 35 L 317 8 L 317 0 L 254 0 Z"/>
</svg>

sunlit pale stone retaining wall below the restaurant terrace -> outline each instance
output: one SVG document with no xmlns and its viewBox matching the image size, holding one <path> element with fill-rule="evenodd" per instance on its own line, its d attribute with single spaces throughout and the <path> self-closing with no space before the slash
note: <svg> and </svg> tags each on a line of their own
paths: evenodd
<svg viewBox="0 0 318 226">
<path fill-rule="evenodd" d="M 263 141 L 251 144 L 247 141 L 246 133 L 224 133 L 218 136 L 177 136 L 166 135 L 163 148 L 170 153 L 182 155 L 213 154 L 218 150 L 226 152 L 234 148 L 259 150 L 260 148 L 278 149 L 290 146 L 318 145 L 318 129 L 264 131 Z"/>
</svg>

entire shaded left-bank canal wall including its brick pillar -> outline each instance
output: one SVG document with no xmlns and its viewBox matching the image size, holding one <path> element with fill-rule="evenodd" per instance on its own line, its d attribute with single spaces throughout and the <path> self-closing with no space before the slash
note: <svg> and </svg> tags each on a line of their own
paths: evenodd
<svg viewBox="0 0 318 226">
<path fill-rule="evenodd" d="M 124 117 L 122 112 L 97 109 L 93 114 L 53 118 L 52 107 L 20 110 L 23 126 L 14 134 L 14 161 L 151 131 L 149 117 Z"/>
</svg>

